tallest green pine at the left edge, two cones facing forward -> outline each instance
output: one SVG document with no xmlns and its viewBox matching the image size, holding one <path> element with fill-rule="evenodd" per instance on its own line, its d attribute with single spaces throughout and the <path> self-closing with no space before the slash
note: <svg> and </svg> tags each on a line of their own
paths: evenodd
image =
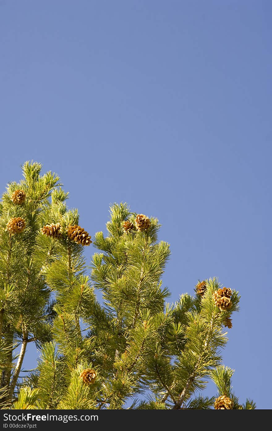
<svg viewBox="0 0 272 431">
<path fill-rule="evenodd" d="M 53 303 L 43 268 L 54 254 L 44 249 L 40 227 L 55 216 L 66 195 L 59 177 L 40 175 L 41 164 L 25 162 L 24 180 L 11 182 L 0 205 L 0 402 L 9 406 L 29 343 L 51 340 Z M 52 202 L 50 203 L 50 197 Z"/>
</svg>

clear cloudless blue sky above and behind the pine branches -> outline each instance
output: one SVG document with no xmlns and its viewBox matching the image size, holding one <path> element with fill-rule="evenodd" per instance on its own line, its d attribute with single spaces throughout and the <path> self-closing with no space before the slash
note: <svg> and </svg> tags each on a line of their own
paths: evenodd
<svg viewBox="0 0 272 431">
<path fill-rule="evenodd" d="M 1 193 L 34 160 L 92 236 L 113 202 L 158 217 L 170 302 L 213 276 L 241 294 L 223 361 L 258 409 L 272 408 L 271 20 L 270 0 L 0 0 Z"/>
</svg>

